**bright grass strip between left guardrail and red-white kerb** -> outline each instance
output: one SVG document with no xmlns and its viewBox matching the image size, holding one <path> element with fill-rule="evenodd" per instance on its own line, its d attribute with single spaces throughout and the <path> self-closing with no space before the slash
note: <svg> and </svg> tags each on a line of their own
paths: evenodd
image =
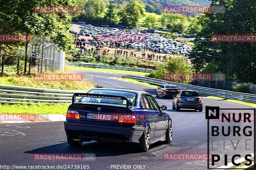
<svg viewBox="0 0 256 170">
<path fill-rule="evenodd" d="M 69 104 L 2 104 L 0 114 L 66 114 Z"/>
</svg>

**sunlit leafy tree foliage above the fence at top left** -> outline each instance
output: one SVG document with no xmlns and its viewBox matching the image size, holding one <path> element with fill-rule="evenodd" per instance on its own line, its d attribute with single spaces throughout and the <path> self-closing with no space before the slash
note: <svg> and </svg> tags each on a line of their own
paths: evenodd
<svg viewBox="0 0 256 170">
<path fill-rule="evenodd" d="M 74 0 L 0 0 L 0 25 L 9 23 L 3 28 L 3 34 L 41 34 L 51 38 L 59 48 L 68 50 L 73 37 L 68 33 L 72 16 L 70 14 L 38 14 L 33 12 L 35 6 L 73 6 Z M 22 46 L 25 43 L 6 43 Z"/>
</svg>

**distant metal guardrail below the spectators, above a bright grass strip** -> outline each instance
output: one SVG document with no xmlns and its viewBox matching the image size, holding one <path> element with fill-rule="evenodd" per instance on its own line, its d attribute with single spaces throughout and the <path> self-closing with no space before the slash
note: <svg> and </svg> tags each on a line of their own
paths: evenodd
<svg viewBox="0 0 256 170">
<path fill-rule="evenodd" d="M 140 68 L 132 68 L 132 67 L 121 67 L 121 66 L 89 64 L 89 63 L 69 63 L 69 62 L 65 62 L 65 65 L 66 66 L 100 68 L 100 69 L 116 69 L 116 70 L 139 71 L 139 72 L 147 72 L 147 73 L 151 73 L 152 71 L 155 71 L 155 70 L 151 70 L 151 69 L 140 69 Z"/>
</svg>

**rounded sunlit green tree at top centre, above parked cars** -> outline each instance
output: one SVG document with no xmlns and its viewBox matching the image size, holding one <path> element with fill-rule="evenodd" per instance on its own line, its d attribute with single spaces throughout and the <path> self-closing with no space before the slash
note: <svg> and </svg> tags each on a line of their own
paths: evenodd
<svg viewBox="0 0 256 170">
<path fill-rule="evenodd" d="M 137 0 L 130 0 L 130 3 L 120 7 L 118 14 L 121 17 L 121 24 L 134 28 L 138 26 L 139 19 L 145 15 L 145 8 Z"/>
</svg>

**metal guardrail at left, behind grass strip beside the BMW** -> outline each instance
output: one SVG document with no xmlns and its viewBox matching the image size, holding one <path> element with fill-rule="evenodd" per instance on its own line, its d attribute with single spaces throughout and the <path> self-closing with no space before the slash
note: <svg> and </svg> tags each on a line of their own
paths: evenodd
<svg viewBox="0 0 256 170">
<path fill-rule="evenodd" d="M 0 103 L 68 104 L 77 92 L 87 91 L 0 85 Z"/>
</svg>

